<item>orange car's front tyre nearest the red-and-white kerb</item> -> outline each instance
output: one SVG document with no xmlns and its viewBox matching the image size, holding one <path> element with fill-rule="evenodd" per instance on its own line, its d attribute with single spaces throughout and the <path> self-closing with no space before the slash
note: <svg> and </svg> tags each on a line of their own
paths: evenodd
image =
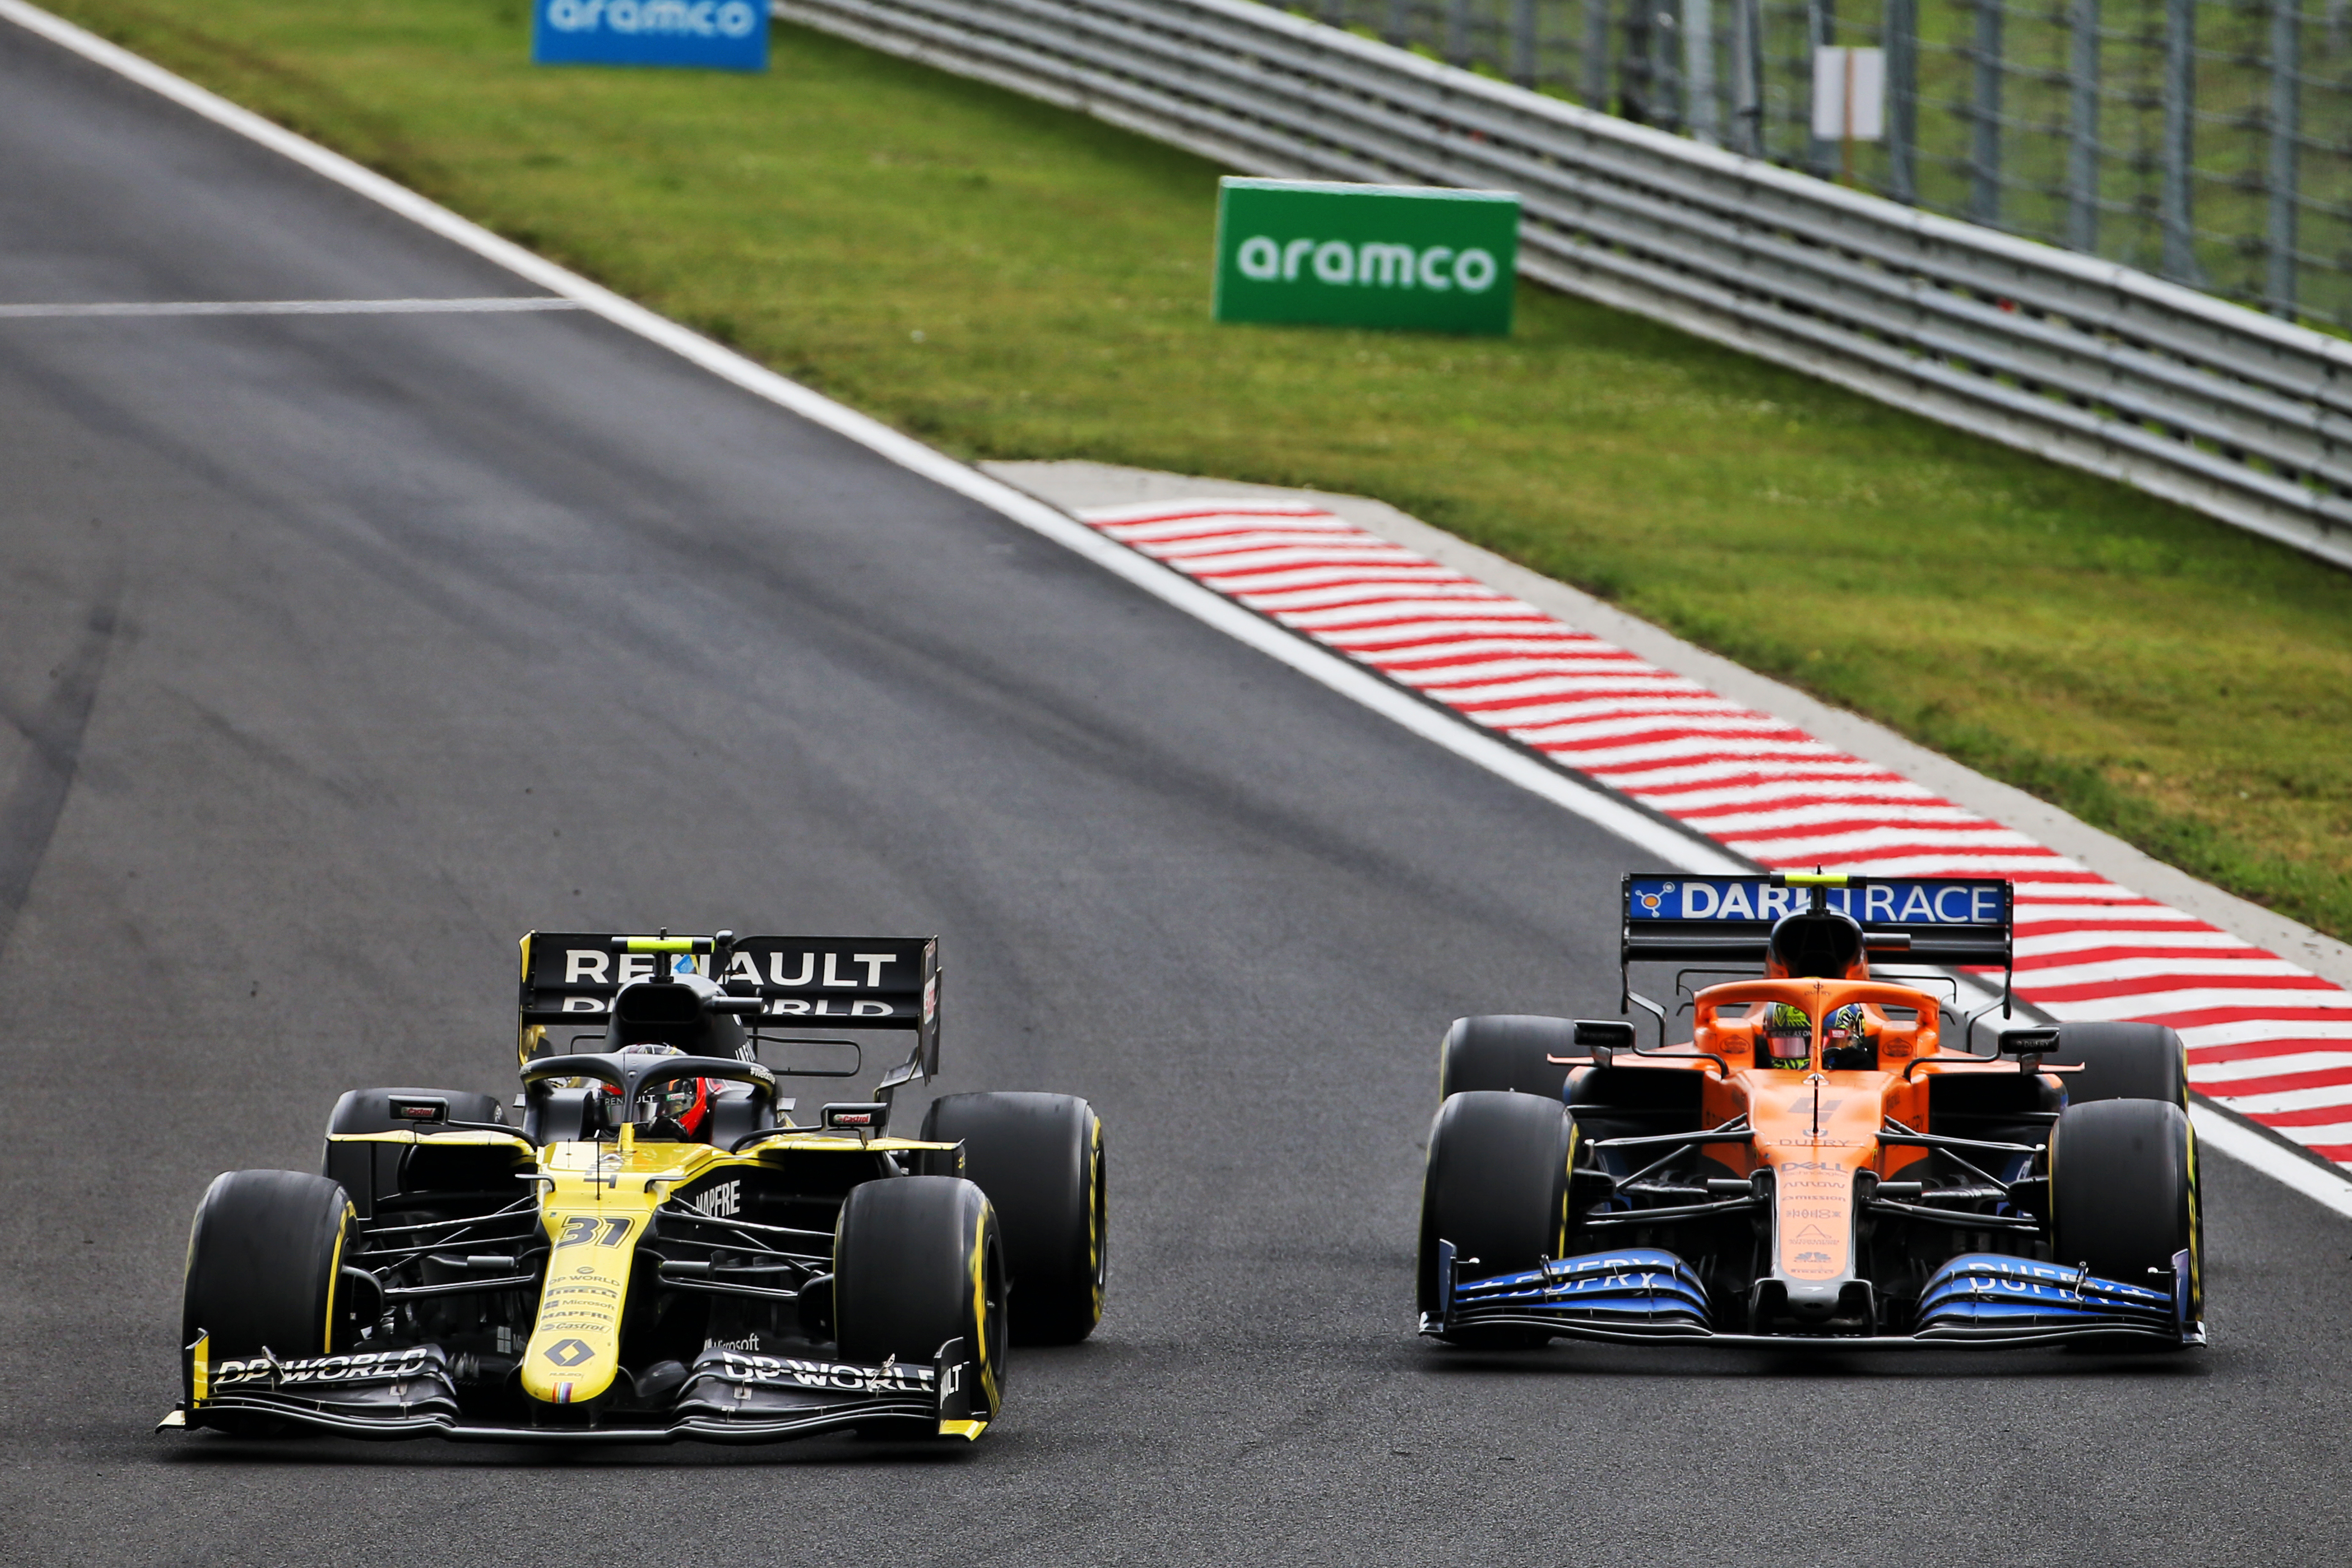
<svg viewBox="0 0 2352 1568">
<path fill-rule="evenodd" d="M 2190 1319 L 2204 1316 L 2197 1131 L 2161 1100 L 2067 1105 L 2051 1131 L 2051 1260 L 2147 1286 L 2187 1253 Z"/>
</svg>

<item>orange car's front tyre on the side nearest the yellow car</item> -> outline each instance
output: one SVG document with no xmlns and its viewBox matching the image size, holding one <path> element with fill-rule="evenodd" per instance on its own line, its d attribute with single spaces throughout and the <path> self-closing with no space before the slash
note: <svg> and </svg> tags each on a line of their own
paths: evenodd
<svg viewBox="0 0 2352 1568">
<path fill-rule="evenodd" d="M 1421 1180 L 1421 1309 L 1437 1312 L 1437 1244 L 1451 1241 L 1456 1279 L 1541 1267 L 1566 1251 L 1569 1161 L 1576 1128 L 1559 1100 L 1468 1088 L 1437 1107 Z M 1486 1328 L 1461 1345 L 1541 1345 L 1550 1335 Z"/>
</svg>

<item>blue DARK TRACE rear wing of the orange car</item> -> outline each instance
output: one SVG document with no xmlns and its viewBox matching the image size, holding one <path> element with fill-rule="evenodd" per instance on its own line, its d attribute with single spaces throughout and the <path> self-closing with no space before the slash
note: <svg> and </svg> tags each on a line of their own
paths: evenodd
<svg viewBox="0 0 2352 1568">
<path fill-rule="evenodd" d="M 1621 964 L 1762 964 L 1773 922 L 1799 910 L 1851 914 L 1870 952 L 1896 961 L 2009 969 L 2009 882 L 1835 872 L 1628 875 Z"/>
</svg>

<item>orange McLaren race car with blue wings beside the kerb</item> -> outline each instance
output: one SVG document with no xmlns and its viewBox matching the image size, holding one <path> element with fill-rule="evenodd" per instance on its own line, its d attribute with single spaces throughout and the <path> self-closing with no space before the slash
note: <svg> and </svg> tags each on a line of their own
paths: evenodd
<svg viewBox="0 0 2352 1568">
<path fill-rule="evenodd" d="M 1625 877 L 1621 1009 L 1463 1018 L 1439 1051 L 1421 1333 L 1623 1342 L 2204 1342 L 2187 1060 L 2164 1027 L 2009 1027 L 1976 1056 L 1959 983 L 2009 969 L 1992 879 Z M 1689 992 L 1691 1037 L 1632 992 Z M 1733 971 L 1738 973 L 1738 971 Z M 1950 1025 L 1950 1027 L 1947 1027 Z"/>
</svg>

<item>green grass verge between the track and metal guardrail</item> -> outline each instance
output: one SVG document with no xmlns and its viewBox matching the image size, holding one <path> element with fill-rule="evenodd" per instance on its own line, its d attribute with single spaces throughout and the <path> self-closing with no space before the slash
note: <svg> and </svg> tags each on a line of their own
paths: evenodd
<svg viewBox="0 0 2352 1568">
<path fill-rule="evenodd" d="M 2291 550 L 1534 289 L 1508 341 L 1216 327 L 1211 165 L 809 33 L 59 9 L 948 451 L 1381 496 L 2352 933 L 2352 576 Z"/>
</svg>

